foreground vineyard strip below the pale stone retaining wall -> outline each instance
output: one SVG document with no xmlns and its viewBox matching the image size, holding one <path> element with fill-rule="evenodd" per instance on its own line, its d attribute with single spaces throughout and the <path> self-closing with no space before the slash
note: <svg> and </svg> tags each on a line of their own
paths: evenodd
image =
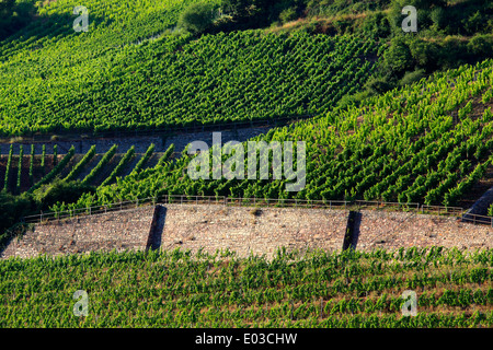
<svg viewBox="0 0 493 350">
<path fill-rule="evenodd" d="M 492 327 L 493 252 L 237 258 L 187 250 L 0 261 L 0 327 Z M 72 313 L 76 291 L 88 315 Z M 416 293 L 417 315 L 401 313 Z"/>
</svg>

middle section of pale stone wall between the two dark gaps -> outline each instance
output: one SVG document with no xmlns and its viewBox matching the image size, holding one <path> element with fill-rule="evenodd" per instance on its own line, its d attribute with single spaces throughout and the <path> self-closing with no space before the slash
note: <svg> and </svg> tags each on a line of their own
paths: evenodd
<svg viewBox="0 0 493 350">
<path fill-rule="evenodd" d="M 234 250 L 239 256 L 321 248 L 340 250 L 346 210 L 226 207 L 220 205 L 165 205 L 161 247 L 214 253 Z"/>
</svg>

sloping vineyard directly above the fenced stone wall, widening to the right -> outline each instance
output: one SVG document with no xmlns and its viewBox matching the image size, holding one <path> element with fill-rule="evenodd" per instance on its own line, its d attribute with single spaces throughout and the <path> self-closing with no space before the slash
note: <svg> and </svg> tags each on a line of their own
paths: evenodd
<svg viewBox="0 0 493 350">
<path fill-rule="evenodd" d="M 286 179 L 192 180 L 186 171 L 193 158 L 185 155 L 100 187 L 70 206 L 162 195 L 456 206 L 492 166 L 492 85 L 493 61 L 486 60 L 253 139 L 306 142 L 307 185 L 298 192 L 284 190 Z"/>
</svg>

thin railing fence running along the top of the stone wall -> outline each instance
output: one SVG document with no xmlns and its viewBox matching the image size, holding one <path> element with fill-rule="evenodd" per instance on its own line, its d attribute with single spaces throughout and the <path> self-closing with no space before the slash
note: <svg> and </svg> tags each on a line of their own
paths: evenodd
<svg viewBox="0 0 493 350">
<path fill-rule="evenodd" d="M 344 210 L 386 210 L 404 211 L 421 214 L 445 215 L 460 218 L 461 222 L 473 224 L 489 224 L 493 226 L 493 218 L 467 213 L 460 207 L 427 206 L 417 202 L 401 203 L 368 200 L 309 200 L 283 198 L 232 198 L 226 196 L 187 196 L 163 195 L 135 200 L 126 200 L 87 208 L 76 208 L 62 211 L 41 212 L 23 218 L 25 223 L 41 223 L 53 220 L 64 220 L 81 215 L 104 214 L 115 211 L 134 210 L 142 206 L 156 205 L 222 205 L 234 207 L 277 207 L 277 208 L 310 208 L 310 209 L 344 209 Z"/>
</svg>

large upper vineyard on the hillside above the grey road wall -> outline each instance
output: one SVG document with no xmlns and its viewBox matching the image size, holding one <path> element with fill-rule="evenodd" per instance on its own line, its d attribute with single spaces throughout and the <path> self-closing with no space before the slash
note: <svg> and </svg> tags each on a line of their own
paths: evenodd
<svg viewBox="0 0 493 350">
<path fill-rule="evenodd" d="M 323 113 L 363 86 L 385 48 L 351 36 L 262 31 L 160 36 L 187 1 L 151 2 L 89 1 L 92 22 L 80 35 L 71 28 L 71 2 L 51 2 L 39 13 L 46 21 L 0 43 L 1 135 Z"/>
</svg>

